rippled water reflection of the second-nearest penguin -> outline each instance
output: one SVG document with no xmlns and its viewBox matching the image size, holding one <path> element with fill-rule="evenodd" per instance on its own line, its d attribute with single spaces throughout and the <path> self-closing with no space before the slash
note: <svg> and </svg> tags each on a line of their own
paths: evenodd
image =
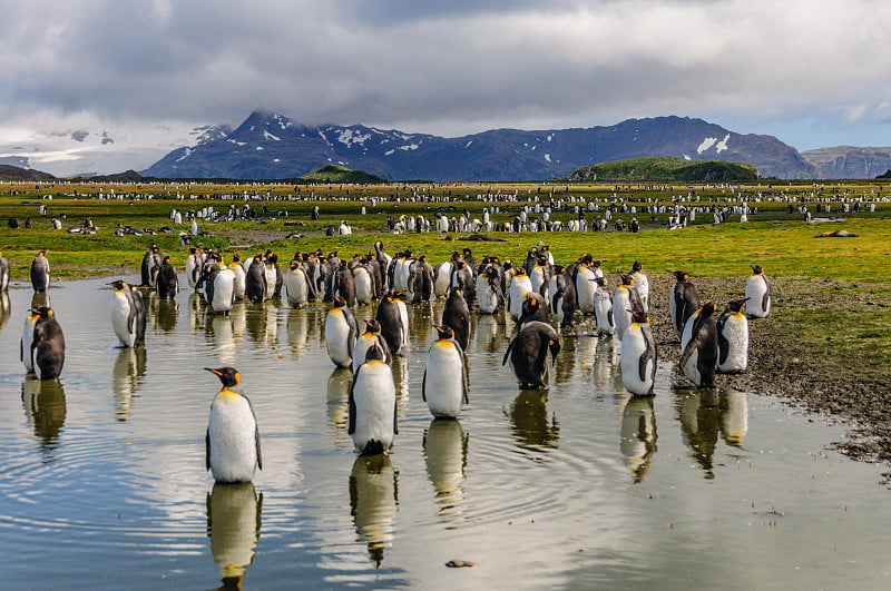
<svg viewBox="0 0 891 591">
<path fill-rule="evenodd" d="M 386 454 L 360 455 L 350 474 L 350 515 L 358 542 L 368 545 L 369 558 L 380 568 L 383 551 L 393 541 L 398 473 Z"/>
</svg>

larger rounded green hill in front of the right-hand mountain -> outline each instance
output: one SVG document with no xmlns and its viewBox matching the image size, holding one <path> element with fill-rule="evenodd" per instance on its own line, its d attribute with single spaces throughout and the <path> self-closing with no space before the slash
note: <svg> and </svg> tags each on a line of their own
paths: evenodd
<svg viewBox="0 0 891 591">
<path fill-rule="evenodd" d="M 558 180 L 565 183 L 590 183 L 593 180 L 709 183 L 755 180 L 757 178 L 757 169 L 747 164 L 724 160 L 691 161 L 674 156 L 654 156 L 585 166 Z"/>
</svg>

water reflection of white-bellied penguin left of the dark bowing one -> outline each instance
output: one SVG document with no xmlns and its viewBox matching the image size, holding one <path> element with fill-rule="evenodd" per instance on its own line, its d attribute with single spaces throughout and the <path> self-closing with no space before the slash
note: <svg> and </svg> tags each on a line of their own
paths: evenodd
<svg viewBox="0 0 891 591">
<path fill-rule="evenodd" d="M 424 433 L 423 447 L 427 473 L 437 492 L 439 516 L 446 523 L 459 521 L 468 435 L 457 418 L 434 418 Z"/>
</svg>

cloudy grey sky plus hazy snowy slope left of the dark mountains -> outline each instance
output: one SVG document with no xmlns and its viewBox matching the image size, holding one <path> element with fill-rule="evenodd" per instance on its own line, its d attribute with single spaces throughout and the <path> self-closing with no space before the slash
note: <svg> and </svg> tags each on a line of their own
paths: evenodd
<svg viewBox="0 0 891 591">
<path fill-rule="evenodd" d="M 0 0 L 0 161 L 141 169 L 256 108 L 462 136 L 701 117 L 891 146 L 887 0 Z"/>
</svg>

